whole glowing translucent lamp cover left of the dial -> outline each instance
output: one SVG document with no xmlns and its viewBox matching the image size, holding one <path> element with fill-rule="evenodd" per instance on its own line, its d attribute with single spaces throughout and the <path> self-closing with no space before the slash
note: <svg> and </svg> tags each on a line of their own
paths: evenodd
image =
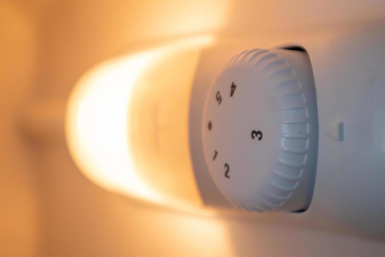
<svg viewBox="0 0 385 257">
<path fill-rule="evenodd" d="M 79 169 L 130 197 L 180 207 L 201 205 L 188 147 L 188 104 L 199 49 L 187 38 L 107 60 L 76 83 L 66 137 Z"/>
</svg>

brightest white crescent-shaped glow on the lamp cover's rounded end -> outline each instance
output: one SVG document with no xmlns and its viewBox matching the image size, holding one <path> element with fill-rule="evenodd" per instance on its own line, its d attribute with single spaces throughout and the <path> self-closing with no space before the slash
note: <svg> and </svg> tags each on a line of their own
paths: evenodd
<svg viewBox="0 0 385 257">
<path fill-rule="evenodd" d="M 86 72 L 75 85 L 66 111 L 70 153 L 80 170 L 109 190 L 164 205 L 177 205 L 137 174 L 129 147 L 129 99 L 138 77 L 159 58 L 197 48 L 213 37 L 182 39 L 156 49 L 109 60 Z"/>
</svg>

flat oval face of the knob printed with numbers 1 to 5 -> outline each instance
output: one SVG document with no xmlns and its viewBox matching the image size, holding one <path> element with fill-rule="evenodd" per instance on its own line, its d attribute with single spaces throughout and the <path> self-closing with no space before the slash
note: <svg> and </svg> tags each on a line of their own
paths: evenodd
<svg viewBox="0 0 385 257">
<path fill-rule="evenodd" d="M 230 67 L 206 99 L 206 162 L 219 188 L 234 203 L 254 197 L 273 165 L 275 101 L 266 97 L 269 89 L 263 84 L 253 67 Z"/>
</svg>

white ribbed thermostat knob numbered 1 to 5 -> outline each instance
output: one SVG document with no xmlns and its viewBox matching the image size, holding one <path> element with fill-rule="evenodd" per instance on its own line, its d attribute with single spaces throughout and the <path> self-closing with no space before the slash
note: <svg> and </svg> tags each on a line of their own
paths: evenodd
<svg viewBox="0 0 385 257">
<path fill-rule="evenodd" d="M 234 56 L 211 87 L 203 146 L 226 198 L 248 211 L 300 211 L 313 195 L 318 117 L 308 55 L 283 49 Z"/>
</svg>

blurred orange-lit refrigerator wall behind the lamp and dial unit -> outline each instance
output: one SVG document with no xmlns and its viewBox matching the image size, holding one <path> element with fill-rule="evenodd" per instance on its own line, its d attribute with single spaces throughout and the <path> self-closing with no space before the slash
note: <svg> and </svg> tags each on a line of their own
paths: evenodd
<svg viewBox="0 0 385 257">
<path fill-rule="evenodd" d="M 365 5 L 331 0 L 0 2 L 0 255 L 383 255 L 379 237 L 315 230 L 300 224 L 301 216 L 286 223 L 196 215 L 105 191 L 74 165 L 63 121 L 69 92 L 89 67 L 142 45 L 211 33 L 253 36 L 258 47 L 272 46 L 321 27 L 355 27 L 384 13 L 376 0 Z M 43 133 L 20 124 L 25 121 L 20 116 L 36 102 L 42 106 L 37 116 L 52 116 L 43 124 L 49 126 L 41 126 Z"/>
</svg>

